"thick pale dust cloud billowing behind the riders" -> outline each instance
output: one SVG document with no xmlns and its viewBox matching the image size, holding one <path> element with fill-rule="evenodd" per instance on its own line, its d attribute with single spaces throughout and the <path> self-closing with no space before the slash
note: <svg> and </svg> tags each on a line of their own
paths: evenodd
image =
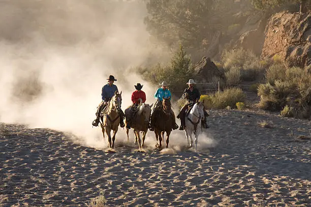
<svg viewBox="0 0 311 207">
<path fill-rule="evenodd" d="M 144 1 L 1 1 L 0 122 L 69 132 L 86 146 L 105 147 L 91 122 L 106 79 L 117 79 L 123 110 L 136 83 L 151 104 L 157 86 L 129 68 L 170 56 L 150 42 L 145 16 Z M 119 128 L 116 140 L 126 140 L 125 131 Z"/>
</svg>

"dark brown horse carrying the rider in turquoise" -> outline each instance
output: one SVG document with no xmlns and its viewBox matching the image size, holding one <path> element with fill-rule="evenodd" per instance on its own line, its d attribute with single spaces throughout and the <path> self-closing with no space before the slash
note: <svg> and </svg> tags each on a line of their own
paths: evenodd
<svg viewBox="0 0 311 207">
<path fill-rule="evenodd" d="M 154 133 L 157 144 L 155 147 L 162 148 L 162 140 L 164 141 L 164 132 L 166 132 L 166 148 L 168 148 L 169 137 L 174 126 L 174 120 L 171 115 L 171 101 L 169 98 L 163 98 L 162 107 L 154 109 Z M 158 137 L 159 142 L 158 144 Z"/>
</svg>

